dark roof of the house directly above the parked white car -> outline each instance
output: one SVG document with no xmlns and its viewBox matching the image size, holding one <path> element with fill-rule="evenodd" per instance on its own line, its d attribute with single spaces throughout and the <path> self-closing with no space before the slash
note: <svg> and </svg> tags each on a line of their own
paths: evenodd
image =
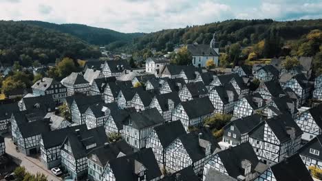
<svg viewBox="0 0 322 181">
<path fill-rule="evenodd" d="M 67 134 L 69 132 L 75 132 L 75 130 L 86 131 L 86 125 L 76 125 L 72 127 L 63 128 L 60 130 L 54 130 L 51 132 L 43 132 L 41 134 L 41 138 L 43 138 L 43 145 L 45 149 L 49 149 L 51 147 L 57 147 L 63 144 Z"/>
</svg>

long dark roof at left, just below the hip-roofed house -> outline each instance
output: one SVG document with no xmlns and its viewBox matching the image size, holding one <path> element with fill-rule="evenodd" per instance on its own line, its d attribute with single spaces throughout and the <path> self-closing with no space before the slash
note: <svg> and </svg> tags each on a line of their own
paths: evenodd
<svg viewBox="0 0 322 181">
<path fill-rule="evenodd" d="M 50 108 L 50 111 L 55 110 L 55 101 L 52 99 L 52 95 L 42 95 L 39 97 L 23 97 L 23 103 L 26 110 L 46 110 Z"/>
</svg>

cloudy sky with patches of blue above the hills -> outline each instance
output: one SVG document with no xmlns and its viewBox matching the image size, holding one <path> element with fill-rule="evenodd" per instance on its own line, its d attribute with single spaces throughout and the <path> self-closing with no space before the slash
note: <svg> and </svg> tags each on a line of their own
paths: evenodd
<svg viewBox="0 0 322 181">
<path fill-rule="evenodd" d="M 0 19 L 155 32 L 226 19 L 322 19 L 322 0 L 0 0 Z"/>
</svg>

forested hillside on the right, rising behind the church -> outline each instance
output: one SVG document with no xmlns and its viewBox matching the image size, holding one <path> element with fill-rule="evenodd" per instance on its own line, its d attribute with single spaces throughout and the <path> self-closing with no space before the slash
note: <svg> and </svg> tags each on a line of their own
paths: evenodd
<svg viewBox="0 0 322 181">
<path fill-rule="evenodd" d="M 322 29 L 322 19 L 285 22 L 272 21 L 271 19 L 229 20 L 145 34 L 135 38 L 132 44 L 118 48 L 128 50 L 155 48 L 157 51 L 171 51 L 173 46 L 178 44 L 194 42 L 208 44 L 214 33 L 219 47 L 223 48 L 226 45 L 230 45 L 230 43 L 248 46 L 268 38 L 272 29 L 276 30 L 276 36 L 281 38 L 281 42 L 284 42 L 285 40 L 301 38 L 301 36 L 308 34 L 313 29 Z"/>
</svg>

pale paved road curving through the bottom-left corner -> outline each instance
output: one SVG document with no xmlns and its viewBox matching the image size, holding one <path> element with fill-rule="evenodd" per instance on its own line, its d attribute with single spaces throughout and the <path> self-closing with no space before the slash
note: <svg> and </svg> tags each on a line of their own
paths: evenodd
<svg viewBox="0 0 322 181">
<path fill-rule="evenodd" d="M 14 161 L 17 162 L 18 165 L 25 167 L 27 171 L 33 174 L 36 174 L 37 172 L 45 174 L 45 176 L 47 176 L 47 180 L 49 181 L 61 180 L 61 178 L 57 178 L 56 176 L 54 176 L 50 172 L 50 170 L 47 170 L 38 158 L 32 158 L 30 156 L 25 156 L 24 154 L 17 152 L 16 145 L 12 143 L 11 138 L 9 136 L 6 136 L 5 142 L 6 153 L 12 156 L 12 158 L 14 158 Z"/>
</svg>

